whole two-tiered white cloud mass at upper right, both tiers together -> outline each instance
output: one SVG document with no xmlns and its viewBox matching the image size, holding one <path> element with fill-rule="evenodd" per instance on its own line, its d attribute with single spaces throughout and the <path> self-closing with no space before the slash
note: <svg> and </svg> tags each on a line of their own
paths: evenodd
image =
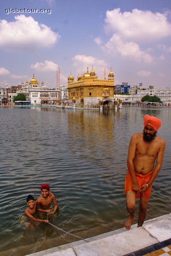
<svg viewBox="0 0 171 256">
<path fill-rule="evenodd" d="M 167 15 L 138 9 L 123 13 L 120 8 L 107 11 L 104 28 L 113 35 L 102 47 L 103 50 L 109 55 L 153 63 L 154 58 L 149 54 L 153 52 L 152 48 L 142 50 L 142 43 L 156 44 L 157 40 L 171 36 Z"/>
</svg>

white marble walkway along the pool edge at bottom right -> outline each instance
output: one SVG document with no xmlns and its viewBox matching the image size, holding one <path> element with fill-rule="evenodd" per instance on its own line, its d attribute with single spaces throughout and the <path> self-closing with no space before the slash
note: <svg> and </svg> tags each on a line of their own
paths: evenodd
<svg viewBox="0 0 171 256">
<path fill-rule="evenodd" d="M 28 256 L 166 256 L 171 255 L 171 213 Z"/>
</svg>

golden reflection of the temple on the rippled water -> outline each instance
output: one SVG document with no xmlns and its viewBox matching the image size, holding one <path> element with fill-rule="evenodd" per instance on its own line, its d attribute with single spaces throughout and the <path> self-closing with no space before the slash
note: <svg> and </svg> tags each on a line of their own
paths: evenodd
<svg viewBox="0 0 171 256">
<path fill-rule="evenodd" d="M 67 113 L 68 130 L 71 134 L 68 137 L 70 150 L 75 152 L 75 156 L 78 155 L 86 161 L 101 166 L 107 166 L 108 161 L 114 159 L 114 115 L 111 114 L 111 118 L 106 118 L 106 111 L 99 113 L 99 111 L 81 110 Z M 82 147 L 77 152 L 80 143 Z"/>
</svg>

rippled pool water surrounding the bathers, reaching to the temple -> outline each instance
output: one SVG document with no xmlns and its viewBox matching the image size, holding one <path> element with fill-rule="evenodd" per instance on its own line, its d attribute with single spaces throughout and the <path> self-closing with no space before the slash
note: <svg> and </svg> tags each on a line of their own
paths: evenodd
<svg viewBox="0 0 171 256">
<path fill-rule="evenodd" d="M 158 136 L 166 140 L 146 219 L 170 213 L 170 111 L 0 108 L 1 255 L 22 256 L 78 240 L 47 223 L 26 225 L 26 198 L 36 199 L 43 183 L 58 202 L 55 226 L 83 238 L 124 227 L 128 145 L 131 135 L 143 130 L 145 114 L 162 120 Z M 134 223 L 137 213 L 138 201 Z"/>
</svg>

